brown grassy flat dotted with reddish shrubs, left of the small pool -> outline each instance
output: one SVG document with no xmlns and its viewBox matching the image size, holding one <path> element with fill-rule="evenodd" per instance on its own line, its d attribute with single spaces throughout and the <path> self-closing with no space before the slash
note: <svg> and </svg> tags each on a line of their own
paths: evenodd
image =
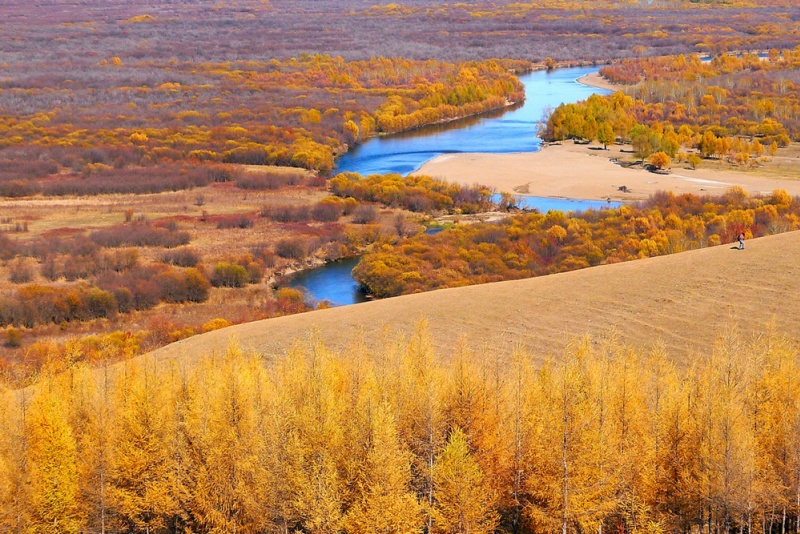
<svg viewBox="0 0 800 534">
<path fill-rule="evenodd" d="M 399 210 L 331 196 L 299 169 L 198 169 L 210 181 L 196 193 L 9 200 L 0 225 L 0 367 L 37 373 L 42 343 L 63 349 L 72 338 L 128 332 L 150 350 L 216 319 L 308 311 L 315 305 L 302 294 L 275 286 L 391 239 L 396 217 L 405 220 Z M 250 177 L 278 187 L 240 189 Z M 369 220 L 355 223 L 359 207 Z"/>
</svg>

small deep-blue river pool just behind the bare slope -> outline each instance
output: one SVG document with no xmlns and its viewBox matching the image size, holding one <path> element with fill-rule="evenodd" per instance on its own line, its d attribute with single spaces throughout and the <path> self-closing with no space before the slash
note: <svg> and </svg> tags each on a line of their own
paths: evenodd
<svg viewBox="0 0 800 534">
<path fill-rule="evenodd" d="M 359 258 L 348 258 L 328 263 L 317 269 L 301 271 L 294 275 L 289 287 L 300 289 L 307 302 L 314 304 L 327 300 L 334 306 L 357 304 L 367 300 L 360 291 L 351 271 Z"/>
</svg>

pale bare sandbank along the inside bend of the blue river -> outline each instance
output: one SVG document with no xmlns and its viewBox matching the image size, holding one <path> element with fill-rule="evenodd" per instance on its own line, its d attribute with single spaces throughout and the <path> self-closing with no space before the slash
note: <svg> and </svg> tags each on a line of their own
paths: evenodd
<svg viewBox="0 0 800 534">
<path fill-rule="evenodd" d="M 415 174 L 427 174 L 465 185 L 482 184 L 498 192 L 540 197 L 642 200 L 657 191 L 675 194 L 719 194 L 738 185 L 750 193 L 785 189 L 800 195 L 800 180 L 742 172 L 717 162 L 695 170 L 673 168 L 655 174 L 641 167 L 624 168 L 612 158 L 630 156 L 630 147 L 564 142 L 538 152 L 518 154 L 447 154 L 425 163 Z M 798 160 L 800 165 L 800 160 Z M 625 187 L 627 192 L 620 188 Z"/>
</svg>

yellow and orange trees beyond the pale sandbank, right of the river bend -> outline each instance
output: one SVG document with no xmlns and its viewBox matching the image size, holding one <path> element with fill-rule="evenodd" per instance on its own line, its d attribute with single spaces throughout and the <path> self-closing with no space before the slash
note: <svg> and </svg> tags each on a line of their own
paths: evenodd
<svg viewBox="0 0 800 534">
<path fill-rule="evenodd" d="M 745 164 L 765 147 L 774 155 L 800 139 L 800 101 L 789 90 L 798 65 L 797 49 L 774 50 L 768 61 L 755 54 L 708 62 L 694 54 L 619 61 L 600 73 L 621 84 L 621 91 L 559 106 L 541 135 L 604 145 L 618 139 L 631 143 L 640 158 L 659 152 L 683 158 L 695 150 L 704 158 Z"/>
</svg>

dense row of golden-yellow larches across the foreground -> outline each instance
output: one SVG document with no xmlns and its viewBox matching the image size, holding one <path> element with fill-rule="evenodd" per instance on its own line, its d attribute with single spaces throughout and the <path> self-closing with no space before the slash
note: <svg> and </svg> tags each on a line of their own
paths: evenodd
<svg viewBox="0 0 800 534">
<path fill-rule="evenodd" d="M 0 528 L 149 532 L 797 532 L 797 346 L 575 338 L 434 353 L 424 325 L 341 352 L 194 363 L 116 336 L 0 392 Z M 95 361 L 99 368 L 86 361 Z"/>
</svg>

